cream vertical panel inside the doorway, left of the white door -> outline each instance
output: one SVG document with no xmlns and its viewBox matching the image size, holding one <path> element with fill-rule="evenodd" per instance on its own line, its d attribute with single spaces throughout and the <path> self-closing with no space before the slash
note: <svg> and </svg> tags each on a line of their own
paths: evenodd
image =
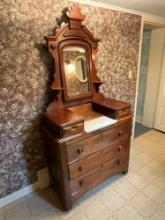
<svg viewBox="0 0 165 220">
<path fill-rule="evenodd" d="M 151 42 L 148 62 L 148 73 L 143 109 L 142 124 L 153 128 L 155 110 L 159 92 L 160 74 L 163 61 L 164 50 L 164 28 L 153 29 L 151 31 Z"/>
</svg>

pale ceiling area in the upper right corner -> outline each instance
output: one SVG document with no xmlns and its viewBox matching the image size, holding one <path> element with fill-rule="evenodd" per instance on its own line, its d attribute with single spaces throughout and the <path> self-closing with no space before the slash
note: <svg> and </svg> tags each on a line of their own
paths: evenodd
<svg viewBox="0 0 165 220">
<path fill-rule="evenodd" d="M 165 17 L 165 0 L 94 0 Z"/>
</svg>

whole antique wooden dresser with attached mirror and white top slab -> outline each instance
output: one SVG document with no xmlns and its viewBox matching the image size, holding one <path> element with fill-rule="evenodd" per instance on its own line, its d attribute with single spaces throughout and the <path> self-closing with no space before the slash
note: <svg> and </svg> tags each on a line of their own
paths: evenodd
<svg viewBox="0 0 165 220">
<path fill-rule="evenodd" d="M 101 81 L 95 68 L 99 40 L 82 25 L 85 15 L 79 5 L 67 12 L 67 16 L 69 22 L 55 35 L 46 37 L 55 63 L 51 84 L 54 100 L 43 113 L 51 184 L 66 210 L 97 184 L 116 173 L 128 171 L 132 127 L 130 104 L 105 98 L 99 93 Z M 70 95 L 63 51 L 74 51 L 74 48 L 82 48 L 83 54 L 77 53 L 73 63 L 81 58 L 75 69 L 86 65 L 78 69 L 78 77 L 80 83 L 88 83 L 88 89 Z M 83 71 L 84 78 L 81 76 Z"/>
</svg>

